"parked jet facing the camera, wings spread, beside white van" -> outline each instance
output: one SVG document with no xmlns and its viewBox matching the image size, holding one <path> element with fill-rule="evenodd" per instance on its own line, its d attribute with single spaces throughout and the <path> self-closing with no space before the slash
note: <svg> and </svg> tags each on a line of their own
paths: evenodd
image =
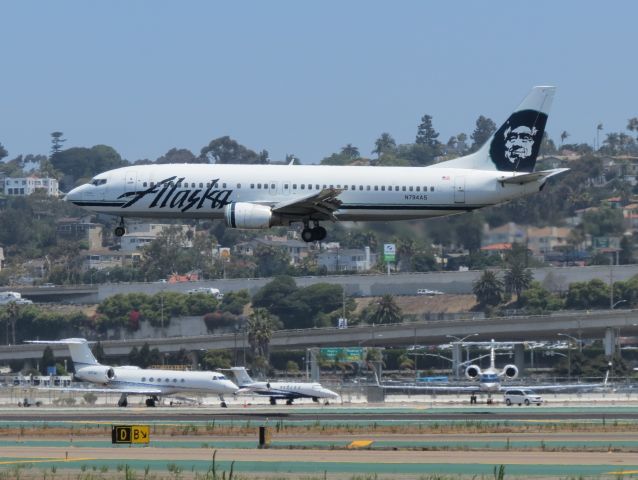
<svg viewBox="0 0 638 480">
<path fill-rule="evenodd" d="M 453 344 L 458 344 L 457 342 L 453 342 Z M 385 390 L 404 390 L 404 391 L 420 391 L 424 393 L 470 393 L 472 402 L 476 399 L 477 393 L 485 393 L 487 394 L 487 403 L 491 404 L 492 394 L 498 393 L 503 390 L 504 385 L 502 384 L 503 380 L 514 380 L 518 377 L 518 367 L 514 364 L 505 365 L 502 368 L 498 368 L 496 366 L 496 349 L 502 346 L 512 346 L 515 344 L 526 344 L 527 342 L 495 342 L 492 340 L 491 342 L 462 342 L 460 345 L 462 346 L 486 346 L 490 349 L 490 366 L 486 369 L 481 369 L 479 365 L 471 364 L 465 368 L 465 377 L 468 380 L 476 381 L 478 380 L 478 384 L 476 385 L 393 385 L 393 384 L 381 384 L 379 383 L 379 379 L 377 378 L 377 384 Z M 479 358 L 483 358 L 479 357 Z M 473 361 L 476 361 L 474 359 Z M 467 364 L 469 362 L 464 362 Z M 376 375 L 376 373 L 375 373 Z M 530 389 L 534 391 L 551 391 L 558 392 L 561 390 L 582 390 L 582 389 L 595 389 L 599 387 L 607 387 L 607 380 L 609 378 L 609 371 L 607 371 L 605 375 L 605 380 L 603 383 L 576 383 L 576 384 L 567 384 L 567 383 L 555 383 L 551 385 L 530 385 L 530 386 L 520 386 L 513 385 L 512 387 L 516 387 L 518 389 Z"/>
</svg>

